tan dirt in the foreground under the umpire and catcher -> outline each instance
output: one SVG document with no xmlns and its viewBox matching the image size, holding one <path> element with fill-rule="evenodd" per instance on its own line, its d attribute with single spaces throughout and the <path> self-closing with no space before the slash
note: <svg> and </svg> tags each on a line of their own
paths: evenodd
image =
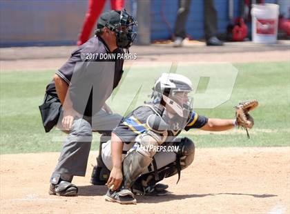
<svg viewBox="0 0 290 214">
<path fill-rule="evenodd" d="M 78 197 L 48 195 L 59 153 L 1 155 L 0 213 L 289 213 L 290 148 L 200 148 L 195 161 L 164 180 L 170 195 L 137 196 L 137 205 L 105 202 L 105 186 L 75 177 Z"/>
</svg>

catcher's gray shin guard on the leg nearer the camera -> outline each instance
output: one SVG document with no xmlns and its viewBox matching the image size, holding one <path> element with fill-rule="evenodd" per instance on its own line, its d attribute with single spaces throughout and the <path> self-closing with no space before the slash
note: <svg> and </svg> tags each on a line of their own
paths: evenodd
<svg viewBox="0 0 290 214">
<path fill-rule="evenodd" d="M 160 139 L 154 133 L 144 133 L 136 137 L 136 143 L 123 161 L 123 185 L 122 188 L 130 189 L 137 177 L 141 175 L 153 160 Z M 151 147 L 152 146 L 152 147 Z"/>
</svg>

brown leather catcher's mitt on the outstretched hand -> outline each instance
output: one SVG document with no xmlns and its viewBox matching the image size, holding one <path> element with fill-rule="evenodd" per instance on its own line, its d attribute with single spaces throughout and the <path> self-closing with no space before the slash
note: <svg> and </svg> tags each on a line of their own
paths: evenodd
<svg viewBox="0 0 290 214">
<path fill-rule="evenodd" d="M 254 124 L 253 117 L 249 115 L 250 110 L 254 110 L 258 106 L 258 101 L 255 99 L 242 101 L 238 106 L 235 106 L 235 119 L 239 127 L 245 128 L 248 133 L 248 128 L 252 128 Z"/>
</svg>

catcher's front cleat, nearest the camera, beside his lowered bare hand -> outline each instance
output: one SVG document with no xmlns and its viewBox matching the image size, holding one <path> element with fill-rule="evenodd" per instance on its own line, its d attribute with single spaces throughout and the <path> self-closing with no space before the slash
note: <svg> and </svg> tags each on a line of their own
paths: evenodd
<svg viewBox="0 0 290 214">
<path fill-rule="evenodd" d="M 122 189 L 121 191 L 112 191 L 108 189 L 105 200 L 108 202 L 117 202 L 119 204 L 137 204 L 134 194 L 128 189 Z"/>
</svg>

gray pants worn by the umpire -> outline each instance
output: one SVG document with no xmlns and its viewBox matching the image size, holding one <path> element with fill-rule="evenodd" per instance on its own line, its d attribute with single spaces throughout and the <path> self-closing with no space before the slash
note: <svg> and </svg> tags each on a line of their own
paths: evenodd
<svg viewBox="0 0 290 214">
<path fill-rule="evenodd" d="M 57 183 L 59 177 L 71 181 L 73 175 L 85 176 L 88 155 L 90 153 L 90 144 L 92 142 L 92 132 L 98 131 L 110 132 L 119 124 L 122 116 L 117 114 L 108 114 L 104 110 L 93 116 L 92 126 L 85 119 L 75 119 L 72 129 L 66 137 L 61 155 L 50 182 Z"/>
</svg>

